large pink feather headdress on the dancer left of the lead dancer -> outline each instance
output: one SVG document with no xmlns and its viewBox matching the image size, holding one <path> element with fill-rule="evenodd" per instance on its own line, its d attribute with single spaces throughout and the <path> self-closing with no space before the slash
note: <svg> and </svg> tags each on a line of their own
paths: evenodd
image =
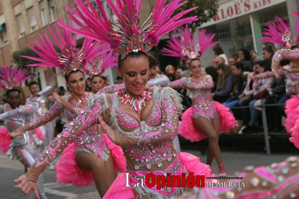
<svg viewBox="0 0 299 199">
<path fill-rule="evenodd" d="M 99 52 L 100 48 L 97 46 L 97 42 L 93 42 L 93 40 L 87 38 L 84 40 L 81 49 L 76 48 L 76 34 L 73 37 L 71 31 L 65 28 L 59 28 L 57 22 L 55 22 L 56 34 L 49 25 L 48 29 L 60 49 L 60 52 L 58 53 L 55 50 L 54 45 L 46 33 L 44 36 L 39 35 L 41 44 L 37 40 L 33 40 L 32 44 L 35 48 L 28 45 L 39 57 L 22 56 L 39 63 L 27 66 L 57 67 L 66 74 L 69 74 L 71 71 L 83 71 L 83 67 L 87 64 L 89 59 L 101 53 Z"/>
</svg>

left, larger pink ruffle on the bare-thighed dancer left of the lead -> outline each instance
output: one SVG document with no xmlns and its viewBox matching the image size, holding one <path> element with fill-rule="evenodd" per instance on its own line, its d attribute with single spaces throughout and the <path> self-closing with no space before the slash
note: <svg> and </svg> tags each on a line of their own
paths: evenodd
<svg viewBox="0 0 299 199">
<path fill-rule="evenodd" d="M 72 143 L 60 157 L 60 162 L 55 166 L 56 182 L 73 184 L 77 187 L 89 186 L 94 183 L 93 172 L 80 168 L 75 160 L 75 144 Z"/>
</svg>

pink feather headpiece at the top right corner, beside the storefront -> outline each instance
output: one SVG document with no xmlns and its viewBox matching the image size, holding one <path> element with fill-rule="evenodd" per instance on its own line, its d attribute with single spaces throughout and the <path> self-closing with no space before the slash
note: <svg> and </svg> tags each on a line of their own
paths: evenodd
<svg viewBox="0 0 299 199">
<path fill-rule="evenodd" d="M 280 17 L 275 16 L 276 22 L 266 24 L 267 29 L 262 32 L 267 37 L 261 38 L 261 42 L 271 42 L 283 46 L 284 48 L 292 48 L 292 46 L 299 44 L 299 23 L 296 19 L 296 36 L 292 36 L 289 22 L 284 22 Z"/>
</svg>

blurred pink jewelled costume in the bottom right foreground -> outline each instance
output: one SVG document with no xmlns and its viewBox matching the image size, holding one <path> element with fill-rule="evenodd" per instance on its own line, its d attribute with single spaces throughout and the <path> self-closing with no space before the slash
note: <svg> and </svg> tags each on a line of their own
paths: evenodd
<svg viewBox="0 0 299 199">
<path fill-rule="evenodd" d="M 291 156 L 283 162 L 272 163 L 270 166 L 256 168 L 247 166 L 237 174 L 243 179 L 215 182 L 216 186 L 219 183 L 222 187 L 195 188 L 192 192 L 184 193 L 180 199 L 299 198 L 298 164 L 298 157 Z M 224 187 L 224 183 L 226 186 L 230 186 L 231 183 L 231 187 Z M 242 187 L 242 183 L 245 187 Z"/>
</svg>

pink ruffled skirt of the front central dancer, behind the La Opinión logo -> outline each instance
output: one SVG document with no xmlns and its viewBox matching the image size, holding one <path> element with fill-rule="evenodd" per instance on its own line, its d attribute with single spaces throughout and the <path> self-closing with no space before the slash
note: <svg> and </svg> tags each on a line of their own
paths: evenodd
<svg viewBox="0 0 299 199">
<path fill-rule="evenodd" d="M 201 163 L 199 157 L 196 157 L 189 153 L 180 152 L 179 158 L 189 174 L 190 172 L 193 172 L 192 175 L 194 176 L 205 175 L 205 177 L 215 177 L 210 169 L 210 166 Z M 135 199 L 133 194 L 133 187 L 125 187 L 125 185 L 126 175 L 122 173 L 118 175 L 118 177 L 114 180 L 103 199 Z M 162 197 L 163 195 L 161 195 L 161 198 Z M 166 196 L 164 197 L 167 198 Z"/>
</svg>

